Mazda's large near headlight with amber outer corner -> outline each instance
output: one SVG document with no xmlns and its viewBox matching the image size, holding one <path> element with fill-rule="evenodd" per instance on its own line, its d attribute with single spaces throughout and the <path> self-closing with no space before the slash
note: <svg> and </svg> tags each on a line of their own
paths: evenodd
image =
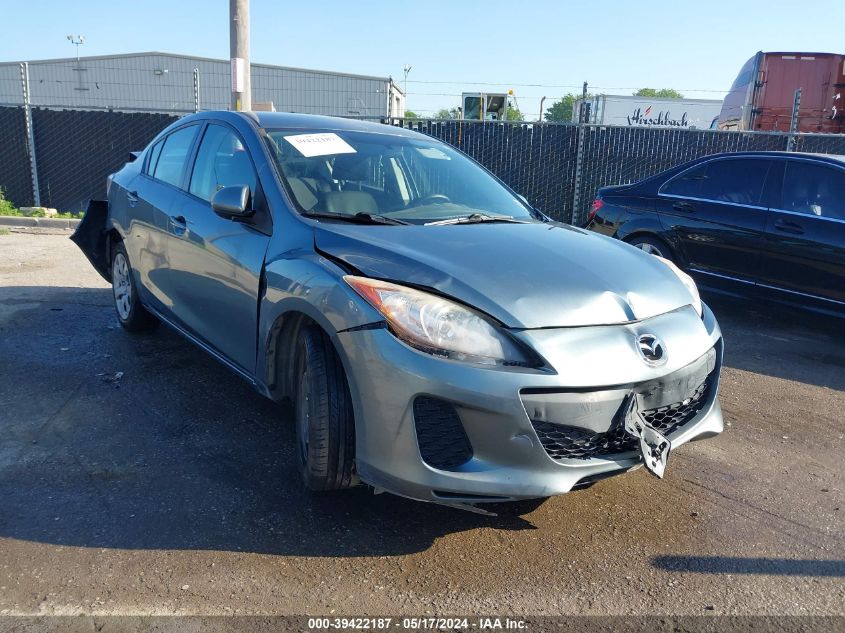
<svg viewBox="0 0 845 633">
<path fill-rule="evenodd" d="M 397 337 L 412 347 L 483 365 L 530 364 L 513 339 L 469 308 L 387 281 L 354 275 L 343 279 L 384 316 Z"/>
</svg>

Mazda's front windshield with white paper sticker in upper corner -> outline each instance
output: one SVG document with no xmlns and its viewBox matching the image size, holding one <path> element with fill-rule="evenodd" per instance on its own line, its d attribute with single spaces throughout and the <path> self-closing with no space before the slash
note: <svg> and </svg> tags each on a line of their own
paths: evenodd
<svg viewBox="0 0 845 633">
<path fill-rule="evenodd" d="M 490 174 L 434 139 L 348 130 L 267 130 L 267 138 L 306 215 L 379 217 L 397 220 L 380 224 L 397 225 L 534 217 Z"/>
</svg>

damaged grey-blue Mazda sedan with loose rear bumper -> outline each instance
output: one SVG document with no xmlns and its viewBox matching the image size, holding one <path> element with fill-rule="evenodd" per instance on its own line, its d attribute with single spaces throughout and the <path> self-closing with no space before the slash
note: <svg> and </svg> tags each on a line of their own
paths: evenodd
<svg viewBox="0 0 845 633">
<path fill-rule="evenodd" d="M 721 332 L 686 274 L 553 222 L 422 134 L 206 112 L 108 192 L 73 239 L 120 323 L 163 321 L 292 402 L 313 490 L 530 508 L 662 477 L 723 429 Z"/>
</svg>

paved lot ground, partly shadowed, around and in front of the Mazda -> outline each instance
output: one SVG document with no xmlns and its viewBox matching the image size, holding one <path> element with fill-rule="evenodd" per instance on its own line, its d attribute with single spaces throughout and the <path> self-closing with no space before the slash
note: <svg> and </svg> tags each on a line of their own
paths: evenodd
<svg viewBox="0 0 845 633">
<path fill-rule="evenodd" d="M 845 322 L 712 300 L 726 433 L 491 519 L 304 492 L 289 414 L 67 235 L 0 235 L 1 614 L 845 614 Z"/>
</svg>

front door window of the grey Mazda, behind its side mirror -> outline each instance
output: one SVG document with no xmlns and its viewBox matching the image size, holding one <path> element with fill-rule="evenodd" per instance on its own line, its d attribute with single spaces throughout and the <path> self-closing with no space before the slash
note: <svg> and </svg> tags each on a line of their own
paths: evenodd
<svg viewBox="0 0 845 633">
<path fill-rule="evenodd" d="M 190 192 L 210 202 L 218 190 L 233 185 L 246 185 L 255 195 L 255 169 L 237 134 L 222 125 L 211 124 L 197 152 Z"/>
</svg>

